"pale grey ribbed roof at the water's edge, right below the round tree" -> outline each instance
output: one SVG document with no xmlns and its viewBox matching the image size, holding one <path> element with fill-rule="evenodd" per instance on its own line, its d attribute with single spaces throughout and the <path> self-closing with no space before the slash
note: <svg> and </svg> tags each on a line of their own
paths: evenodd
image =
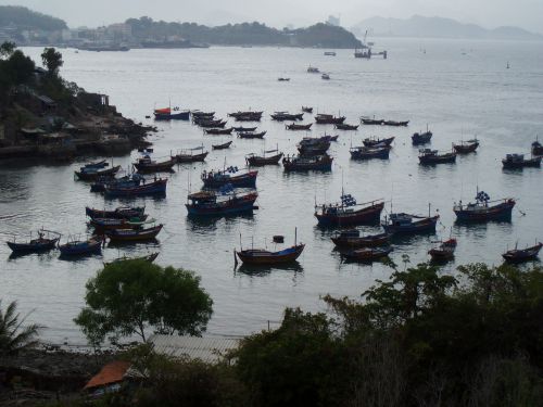
<svg viewBox="0 0 543 407">
<path fill-rule="evenodd" d="M 188 357 L 205 363 L 217 363 L 239 345 L 238 338 L 152 335 L 154 351 L 171 357 Z"/>
</svg>

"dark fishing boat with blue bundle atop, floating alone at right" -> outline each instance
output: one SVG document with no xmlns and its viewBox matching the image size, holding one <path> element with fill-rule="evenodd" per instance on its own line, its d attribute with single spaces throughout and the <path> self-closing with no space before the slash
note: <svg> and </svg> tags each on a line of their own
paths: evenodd
<svg viewBox="0 0 543 407">
<path fill-rule="evenodd" d="M 460 201 L 453 211 L 457 221 L 509 220 L 515 203 L 512 198 L 491 201 L 487 192 L 478 190 L 475 203 L 464 205 Z"/>
</svg>

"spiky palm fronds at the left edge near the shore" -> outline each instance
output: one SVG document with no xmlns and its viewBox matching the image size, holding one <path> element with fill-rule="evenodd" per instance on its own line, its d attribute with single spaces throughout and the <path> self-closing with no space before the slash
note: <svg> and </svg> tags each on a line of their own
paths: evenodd
<svg viewBox="0 0 543 407">
<path fill-rule="evenodd" d="M 0 300 L 0 355 L 35 346 L 38 343 L 38 332 L 42 327 L 36 323 L 23 327 L 29 314 L 21 318 L 16 301 L 8 305 L 5 313 L 2 311 L 1 305 Z"/>
</svg>

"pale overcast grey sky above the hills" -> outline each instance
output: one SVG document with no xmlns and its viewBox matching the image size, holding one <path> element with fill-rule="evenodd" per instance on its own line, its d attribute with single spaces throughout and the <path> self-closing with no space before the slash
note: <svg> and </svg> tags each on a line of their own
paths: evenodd
<svg viewBox="0 0 543 407">
<path fill-rule="evenodd" d="M 306 26 L 341 16 L 350 27 L 380 15 L 443 16 L 485 28 L 513 25 L 543 33 L 543 0 L 0 0 L 65 20 L 71 27 L 94 27 L 148 15 L 153 20 L 225 24 L 258 21 L 275 27 Z M 114 4 L 114 5 L 113 5 Z"/>
</svg>

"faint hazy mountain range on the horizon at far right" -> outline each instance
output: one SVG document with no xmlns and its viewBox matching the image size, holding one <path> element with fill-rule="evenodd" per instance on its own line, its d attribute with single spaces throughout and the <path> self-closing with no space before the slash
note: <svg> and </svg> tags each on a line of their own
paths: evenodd
<svg viewBox="0 0 543 407">
<path fill-rule="evenodd" d="M 542 40 L 543 35 L 518 27 L 487 29 L 476 24 L 463 24 L 451 18 L 414 15 L 408 20 L 371 17 L 356 24 L 351 30 L 358 37 L 368 30 L 378 37 L 426 37 L 459 39 L 521 39 Z"/>
</svg>

